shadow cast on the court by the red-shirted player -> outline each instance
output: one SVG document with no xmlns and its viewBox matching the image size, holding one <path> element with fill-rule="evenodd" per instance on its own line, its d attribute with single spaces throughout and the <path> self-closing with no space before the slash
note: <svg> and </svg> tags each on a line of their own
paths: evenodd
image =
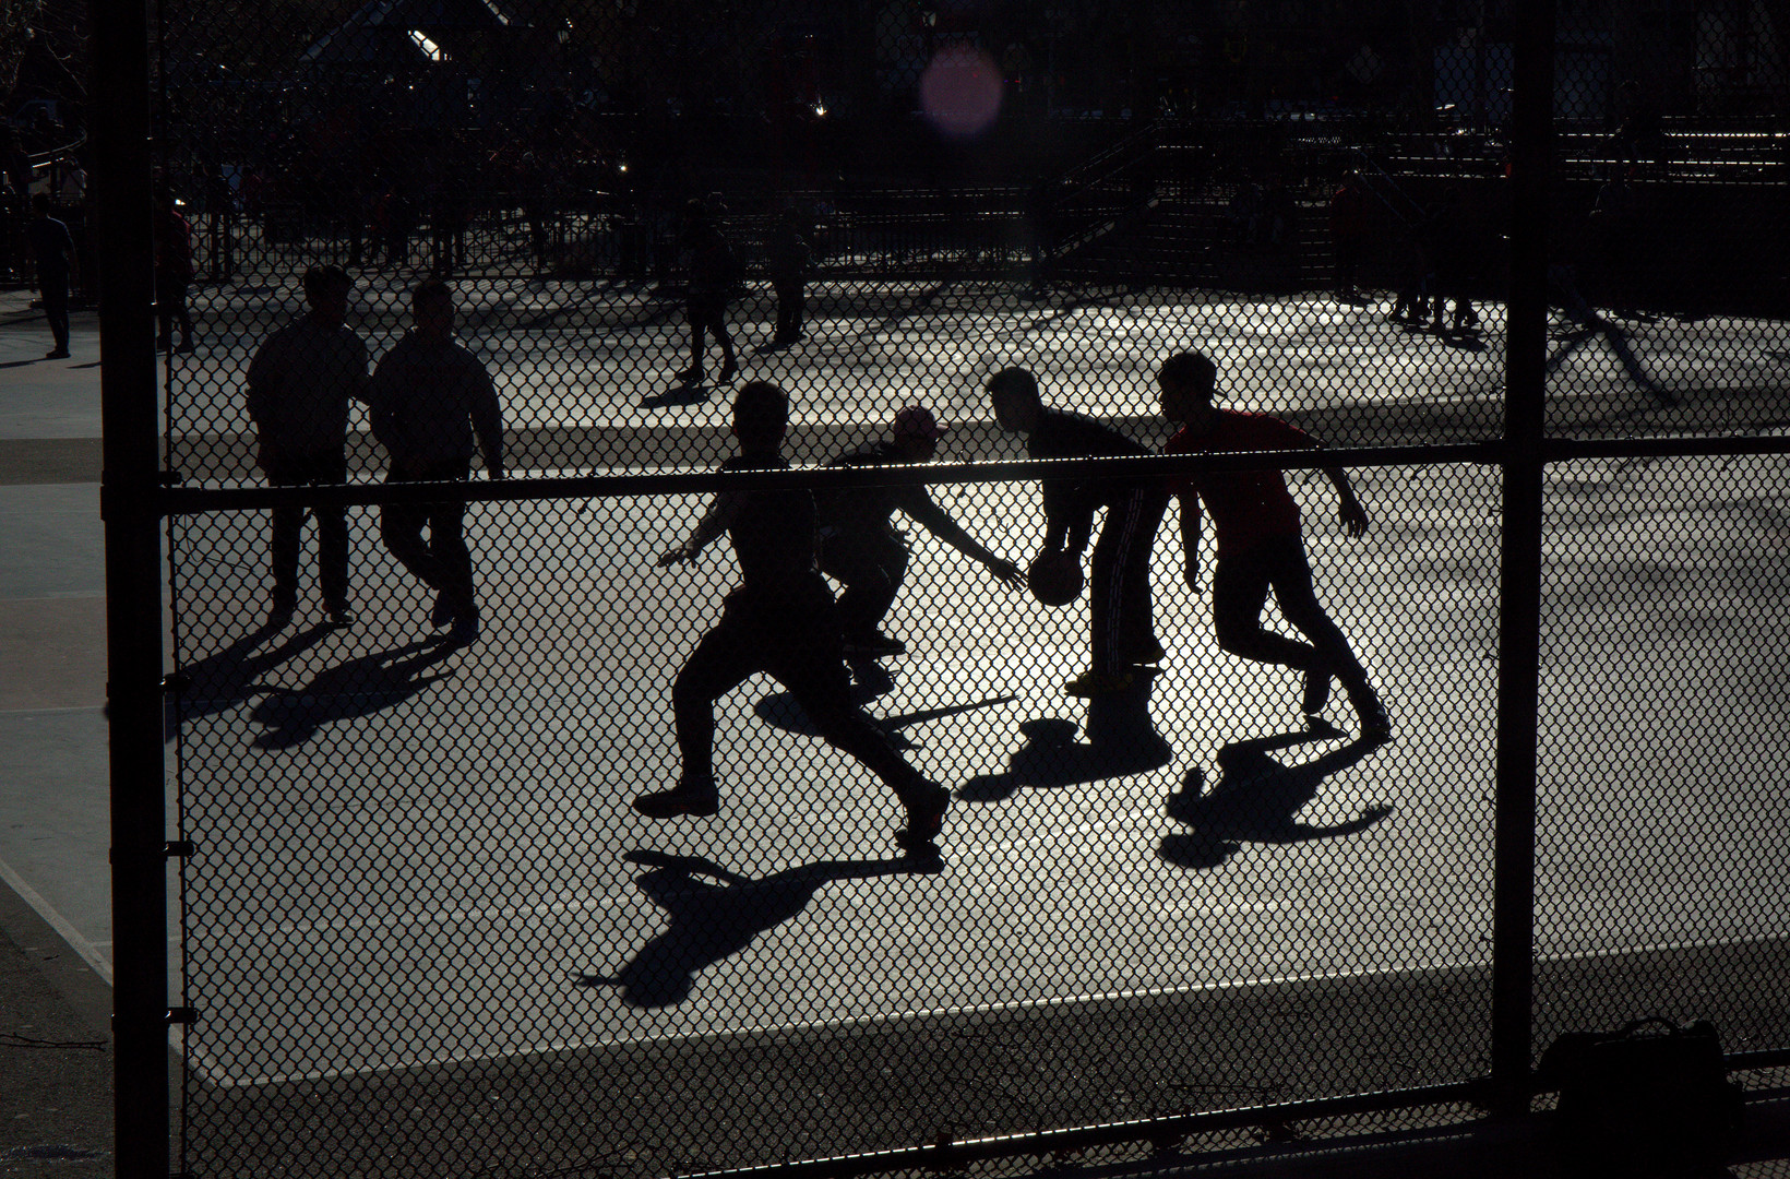
<svg viewBox="0 0 1790 1179">
<path fill-rule="evenodd" d="M 1346 823 L 1314 827 L 1298 821 L 1298 812 L 1317 798 L 1325 778 L 1378 748 L 1371 741 L 1351 741 L 1298 766 L 1269 757 L 1274 750 L 1325 737 L 1323 730 L 1303 728 L 1296 734 L 1235 741 L 1219 750 L 1221 776 L 1210 791 L 1205 789 L 1205 771 L 1199 766 L 1189 769 L 1181 789 L 1169 794 L 1169 818 L 1189 830 L 1164 835 L 1158 855 L 1181 868 L 1217 868 L 1244 843 L 1305 843 L 1353 835 L 1389 816 L 1391 807 L 1373 805 Z"/>
</svg>

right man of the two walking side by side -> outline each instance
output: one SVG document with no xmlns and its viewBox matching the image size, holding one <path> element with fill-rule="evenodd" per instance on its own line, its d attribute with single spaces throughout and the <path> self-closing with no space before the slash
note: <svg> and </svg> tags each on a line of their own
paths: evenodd
<svg viewBox="0 0 1790 1179">
<path fill-rule="evenodd" d="M 503 408 L 485 365 L 453 338 L 453 288 L 440 279 L 419 283 L 410 308 L 415 327 L 372 372 L 372 433 L 392 458 L 385 481 L 465 481 L 474 451 L 485 456 L 485 474 L 501 479 Z M 453 642 L 478 639 L 465 501 L 385 505 L 379 535 L 392 556 L 435 590 L 430 623 L 451 623 Z"/>
</svg>

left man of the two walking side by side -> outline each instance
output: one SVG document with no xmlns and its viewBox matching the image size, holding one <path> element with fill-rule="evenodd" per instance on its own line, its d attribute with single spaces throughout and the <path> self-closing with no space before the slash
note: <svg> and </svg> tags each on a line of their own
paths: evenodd
<svg viewBox="0 0 1790 1179">
<path fill-rule="evenodd" d="M 308 311 L 270 335 L 249 361 L 249 417 L 258 463 L 274 487 L 347 483 L 347 420 L 367 401 L 367 344 L 347 327 L 354 279 L 340 267 L 304 272 Z M 304 508 L 274 508 L 272 621 L 299 603 L 299 547 Z M 353 626 L 347 573 L 347 510 L 315 506 L 317 580 L 331 626 Z"/>
</svg>

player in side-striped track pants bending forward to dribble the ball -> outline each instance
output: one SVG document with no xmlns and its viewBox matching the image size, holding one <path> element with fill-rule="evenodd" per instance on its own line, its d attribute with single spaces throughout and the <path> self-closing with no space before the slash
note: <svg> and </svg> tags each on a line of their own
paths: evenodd
<svg viewBox="0 0 1790 1179">
<path fill-rule="evenodd" d="M 1038 379 L 1002 369 L 988 379 L 1001 429 L 1026 435 L 1031 458 L 1129 458 L 1149 454 L 1112 426 L 1079 413 L 1045 408 Z M 1131 685 L 1131 667 L 1162 660 L 1149 599 L 1149 553 L 1169 497 L 1155 479 L 1044 479 L 1042 555 L 1067 555 L 1079 565 L 1094 535 L 1094 513 L 1106 508 L 1088 578 L 1092 667 L 1069 680 L 1070 696 L 1103 696 Z M 1042 556 L 1040 555 L 1040 556 Z"/>
</svg>

